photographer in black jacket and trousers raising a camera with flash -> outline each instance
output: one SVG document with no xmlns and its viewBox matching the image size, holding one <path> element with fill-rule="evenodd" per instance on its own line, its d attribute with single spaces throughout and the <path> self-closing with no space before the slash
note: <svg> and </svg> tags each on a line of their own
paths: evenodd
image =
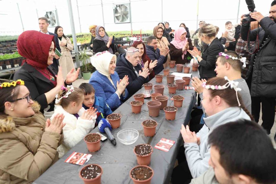
<svg viewBox="0 0 276 184">
<path fill-rule="evenodd" d="M 252 1 L 252 6 L 255 5 Z M 247 3 L 248 5 L 248 3 Z M 253 8 L 253 10 L 254 10 Z M 250 20 L 251 18 L 251 20 Z M 250 31 L 250 38 L 247 40 L 249 23 L 246 25 L 244 19 L 258 21 L 261 27 Z M 255 20 L 252 20 L 255 19 Z M 246 26 L 245 26 L 246 25 Z M 270 134 L 275 116 L 276 99 L 276 0 L 271 3 L 269 16 L 264 17 L 260 12 L 250 12 L 249 17 L 243 17 L 241 26 L 241 37 L 245 41 L 259 39 L 259 48 L 256 54 L 251 57 L 249 69 L 245 76 L 252 100 L 252 115 L 255 121 L 259 121 L 260 108 L 262 103 L 262 126 Z"/>
</svg>

